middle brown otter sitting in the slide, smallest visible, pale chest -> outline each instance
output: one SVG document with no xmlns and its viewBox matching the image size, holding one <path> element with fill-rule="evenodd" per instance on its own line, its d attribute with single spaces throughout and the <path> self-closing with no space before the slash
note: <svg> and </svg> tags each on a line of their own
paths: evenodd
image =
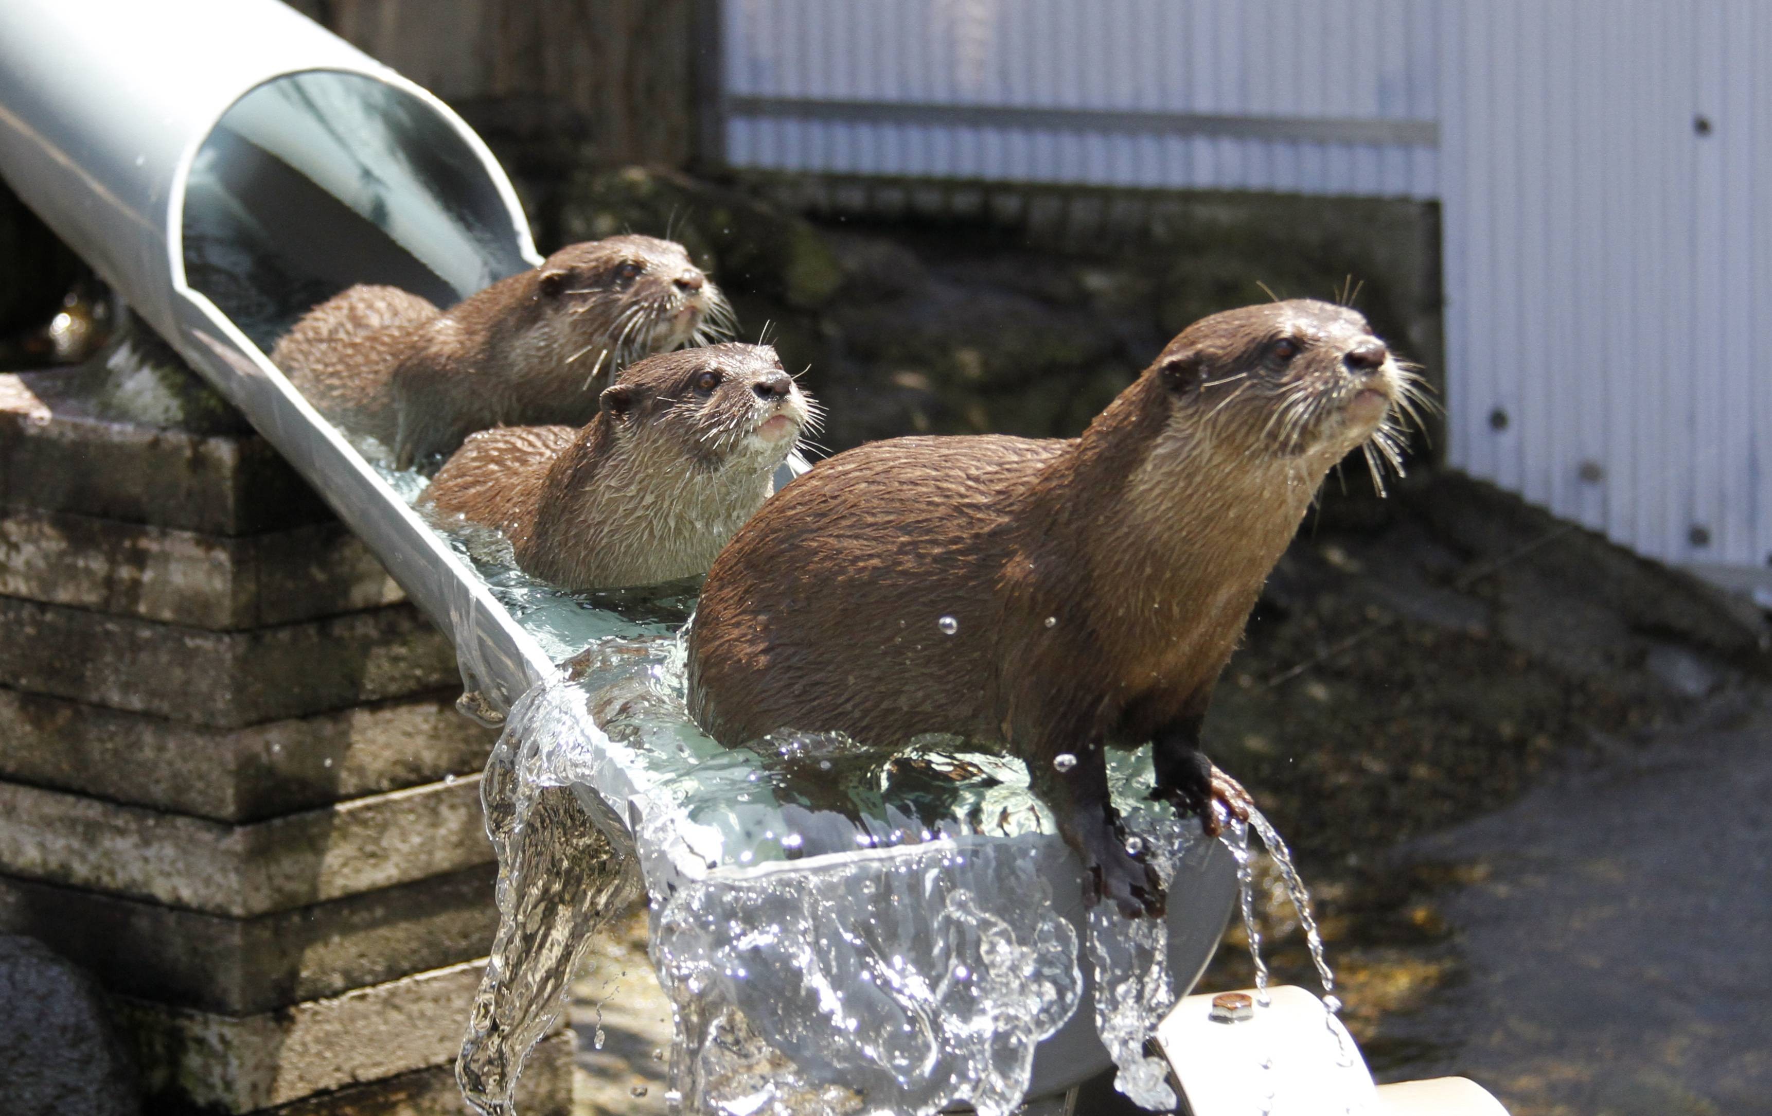
<svg viewBox="0 0 1772 1116">
<path fill-rule="evenodd" d="M 523 572 L 567 590 L 689 577 L 769 496 L 815 411 L 767 345 L 649 356 L 583 430 L 470 436 L 418 505 L 503 531 Z"/>
</svg>

